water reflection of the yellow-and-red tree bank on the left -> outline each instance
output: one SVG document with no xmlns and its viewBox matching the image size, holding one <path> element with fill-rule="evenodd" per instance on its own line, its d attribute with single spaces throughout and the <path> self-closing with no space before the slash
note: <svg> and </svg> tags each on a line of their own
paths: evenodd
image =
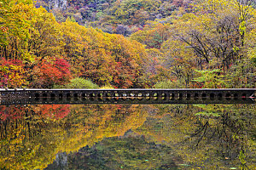
<svg viewBox="0 0 256 170">
<path fill-rule="evenodd" d="M 0 168 L 42 169 L 60 151 L 79 150 L 105 137 L 124 135 L 144 122 L 146 112 L 142 108 L 139 105 L 1 107 Z"/>
</svg>

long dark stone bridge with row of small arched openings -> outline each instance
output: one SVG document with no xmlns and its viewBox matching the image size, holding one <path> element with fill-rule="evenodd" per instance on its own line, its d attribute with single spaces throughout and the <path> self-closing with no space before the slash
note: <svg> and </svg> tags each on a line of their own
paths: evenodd
<svg viewBox="0 0 256 170">
<path fill-rule="evenodd" d="M 0 105 L 254 104 L 256 88 L 0 89 Z"/>
</svg>

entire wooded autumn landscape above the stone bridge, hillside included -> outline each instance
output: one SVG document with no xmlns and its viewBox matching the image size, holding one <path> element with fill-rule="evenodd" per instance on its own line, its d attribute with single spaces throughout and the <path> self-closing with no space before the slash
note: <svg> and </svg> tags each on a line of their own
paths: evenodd
<svg viewBox="0 0 256 170">
<path fill-rule="evenodd" d="M 255 88 L 250 0 L 1 0 L 0 13 L 1 88 L 76 78 L 113 88 Z"/>
</svg>

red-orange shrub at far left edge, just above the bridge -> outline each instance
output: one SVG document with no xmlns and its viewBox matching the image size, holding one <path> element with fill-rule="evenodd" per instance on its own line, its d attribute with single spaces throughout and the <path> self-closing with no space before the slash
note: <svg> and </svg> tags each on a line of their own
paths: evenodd
<svg viewBox="0 0 256 170">
<path fill-rule="evenodd" d="M 26 85 L 26 69 L 19 59 L 0 59 L 0 88 Z"/>
</svg>

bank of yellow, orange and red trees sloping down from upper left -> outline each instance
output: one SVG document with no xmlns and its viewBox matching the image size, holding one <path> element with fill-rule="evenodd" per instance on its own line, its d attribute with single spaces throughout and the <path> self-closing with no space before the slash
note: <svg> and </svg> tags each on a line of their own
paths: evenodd
<svg viewBox="0 0 256 170">
<path fill-rule="evenodd" d="M 1 88 L 52 88 L 76 77 L 99 86 L 145 87 L 142 44 L 69 19 L 58 23 L 28 0 L 3 1 L 0 9 Z"/>
</svg>

